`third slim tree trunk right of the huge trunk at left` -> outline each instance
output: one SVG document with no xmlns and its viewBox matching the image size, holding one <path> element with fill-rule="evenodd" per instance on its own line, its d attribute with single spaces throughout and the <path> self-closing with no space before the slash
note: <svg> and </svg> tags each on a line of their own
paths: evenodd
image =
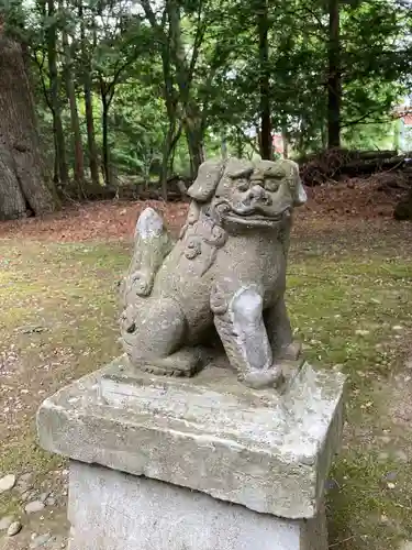
<svg viewBox="0 0 412 550">
<path fill-rule="evenodd" d="M 89 152 L 89 167 L 90 177 L 93 185 L 99 185 L 99 163 L 98 150 L 96 146 L 96 132 L 93 120 L 93 101 L 92 101 L 92 79 L 91 79 L 91 64 L 90 57 L 86 48 L 86 31 L 83 19 L 82 0 L 79 0 L 79 21 L 80 21 L 80 36 L 81 36 L 81 58 L 83 64 L 83 94 L 85 94 L 85 108 L 86 108 L 86 127 L 87 127 L 87 145 Z M 94 32 L 96 35 L 96 32 Z M 96 40 L 96 38 L 94 38 Z"/>
</svg>

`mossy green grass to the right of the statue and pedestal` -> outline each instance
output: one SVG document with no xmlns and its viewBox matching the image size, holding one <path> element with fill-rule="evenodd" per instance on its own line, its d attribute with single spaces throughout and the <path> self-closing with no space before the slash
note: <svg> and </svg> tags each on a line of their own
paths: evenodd
<svg viewBox="0 0 412 550">
<path fill-rule="evenodd" d="M 308 359 L 322 367 L 341 365 L 348 375 L 345 444 L 327 501 L 332 548 L 397 549 L 412 538 L 412 468 L 379 460 L 379 450 L 382 433 L 389 433 L 386 447 L 412 442 L 409 426 L 400 441 L 392 440 L 388 411 L 408 339 L 412 344 L 412 261 L 393 263 L 385 253 L 333 262 L 305 257 L 289 271 L 289 309 Z M 388 473 L 396 475 L 393 487 Z"/>
</svg>

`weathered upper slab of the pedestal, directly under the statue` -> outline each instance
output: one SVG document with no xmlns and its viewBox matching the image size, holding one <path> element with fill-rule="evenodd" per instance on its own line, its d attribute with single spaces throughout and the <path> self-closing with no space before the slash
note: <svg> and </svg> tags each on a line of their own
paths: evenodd
<svg viewBox="0 0 412 550">
<path fill-rule="evenodd" d="M 343 376 L 305 364 L 280 396 L 227 369 L 149 375 L 120 358 L 46 399 L 41 444 L 287 518 L 313 517 L 341 441 Z"/>
</svg>

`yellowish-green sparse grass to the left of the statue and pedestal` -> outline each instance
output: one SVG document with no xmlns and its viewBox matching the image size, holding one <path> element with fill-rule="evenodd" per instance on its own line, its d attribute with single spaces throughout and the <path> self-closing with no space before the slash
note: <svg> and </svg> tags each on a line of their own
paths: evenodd
<svg viewBox="0 0 412 550">
<path fill-rule="evenodd" d="M 0 472 L 43 476 L 62 462 L 36 446 L 34 414 L 45 395 L 119 353 L 115 282 L 127 261 L 115 246 L 0 244 L 0 351 L 18 356 L 1 383 L 5 396 L 30 391 L 21 410 L 0 408 Z M 0 499 L 0 514 L 9 507 Z"/>
</svg>

